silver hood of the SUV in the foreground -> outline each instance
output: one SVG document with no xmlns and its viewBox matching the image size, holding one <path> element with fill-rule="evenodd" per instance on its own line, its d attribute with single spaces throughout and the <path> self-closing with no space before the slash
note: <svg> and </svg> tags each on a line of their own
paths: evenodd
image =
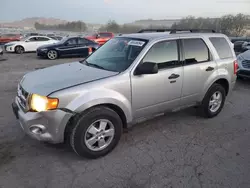
<svg viewBox="0 0 250 188">
<path fill-rule="evenodd" d="M 117 73 L 73 62 L 30 72 L 23 77 L 20 84 L 29 93 L 47 96 L 60 89 L 114 75 Z"/>
</svg>

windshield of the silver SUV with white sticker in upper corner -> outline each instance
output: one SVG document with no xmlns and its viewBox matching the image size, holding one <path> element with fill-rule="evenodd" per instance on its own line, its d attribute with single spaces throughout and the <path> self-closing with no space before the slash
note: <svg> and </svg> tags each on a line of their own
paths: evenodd
<svg viewBox="0 0 250 188">
<path fill-rule="evenodd" d="M 113 72 L 125 71 L 147 44 L 147 40 L 113 38 L 82 62 Z"/>
</svg>

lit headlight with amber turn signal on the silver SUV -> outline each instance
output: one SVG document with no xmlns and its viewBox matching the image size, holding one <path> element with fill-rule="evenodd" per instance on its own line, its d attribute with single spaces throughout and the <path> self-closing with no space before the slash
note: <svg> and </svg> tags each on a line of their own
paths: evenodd
<svg viewBox="0 0 250 188">
<path fill-rule="evenodd" d="M 30 100 L 30 107 L 32 110 L 37 112 L 47 111 L 56 109 L 58 106 L 59 100 L 56 98 L 49 98 L 45 96 L 40 96 L 37 94 L 32 94 Z"/>
</svg>

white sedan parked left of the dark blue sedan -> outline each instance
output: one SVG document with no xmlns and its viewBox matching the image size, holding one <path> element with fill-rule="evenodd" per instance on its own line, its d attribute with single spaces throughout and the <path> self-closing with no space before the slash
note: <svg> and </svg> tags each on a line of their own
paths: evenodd
<svg viewBox="0 0 250 188">
<path fill-rule="evenodd" d="M 24 52 L 35 52 L 40 46 L 57 43 L 58 40 L 47 36 L 30 36 L 20 41 L 9 42 L 4 45 L 5 51 L 22 54 Z"/>
</svg>

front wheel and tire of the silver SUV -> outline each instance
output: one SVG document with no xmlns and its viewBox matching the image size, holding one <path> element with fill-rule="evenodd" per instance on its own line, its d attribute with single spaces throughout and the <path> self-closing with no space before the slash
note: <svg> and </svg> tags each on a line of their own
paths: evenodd
<svg viewBox="0 0 250 188">
<path fill-rule="evenodd" d="M 103 132 L 101 124 L 106 124 Z M 122 127 L 120 116 L 115 111 L 107 107 L 94 107 L 73 122 L 69 133 L 71 148 L 79 156 L 89 159 L 107 155 L 118 144 Z"/>
</svg>

